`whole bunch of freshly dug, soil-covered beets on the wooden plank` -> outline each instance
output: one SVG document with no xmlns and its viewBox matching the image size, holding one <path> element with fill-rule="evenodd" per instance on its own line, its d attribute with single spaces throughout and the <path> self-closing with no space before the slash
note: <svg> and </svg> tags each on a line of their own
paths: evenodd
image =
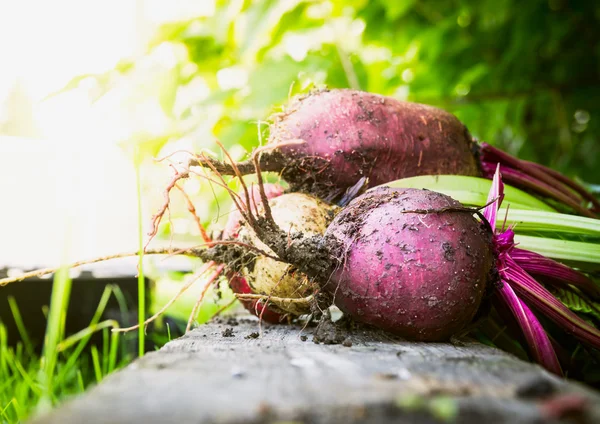
<svg viewBox="0 0 600 424">
<path fill-rule="evenodd" d="M 549 290 L 597 299 L 596 283 L 517 247 L 514 228 L 496 227 L 501 176 L 572 213 L 595 217 L 598 202 L 555 171 L 478 144 L 447 112 L 370 93 L 318 91 L 274 118 L 269 144 L 251 160 L 199 156 L 191 165 L 240 178 L 278 172 L 289 184 L 289 194 L 275 196 L 253 188 L 251 203 L 236 203 L 239 231 L 226 231 L 258 249 L 232 267 L 230 281 L 244 305 L 269 321 L 308 313 L 319 296 L 356 321 L 412 340 L 446 340 L 491 302 L 530 356 L 553 372 L 562 367 L 546 321 L 600 347 L 595 326 Z M 488 205 L 481 212 L 429 190 L 377 187 L 428 174 L 494 178 Z M 223 249 L 210 250 L 195 254 L 224 257 Z"/>
</svg>

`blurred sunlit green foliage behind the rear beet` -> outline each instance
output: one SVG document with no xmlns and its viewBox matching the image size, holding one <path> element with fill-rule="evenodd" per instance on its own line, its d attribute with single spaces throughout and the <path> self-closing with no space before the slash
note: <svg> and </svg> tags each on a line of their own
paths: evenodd
<svg viewBox="0 0 600 424">
<path fill-rule="evenodd" d="M 96 78 L 106 92 L 154 75 L 137 89 L 172 126 L 142 143 L 149 155 L 186 136 L 249 150 L 259 120 L 327 85 L 443 107 L 479 139 L 598 183 L 599 20 L 585 0 L 217 1 Z"/>
</svg>

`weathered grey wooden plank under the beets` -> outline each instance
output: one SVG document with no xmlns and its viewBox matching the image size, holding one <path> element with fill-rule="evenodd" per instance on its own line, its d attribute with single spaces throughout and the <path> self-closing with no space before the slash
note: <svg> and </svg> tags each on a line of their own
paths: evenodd
<svg viewBox="0 0 600 424">
<path fill-rule="evenodd" d="M 428 423 L 456 408 L 460 423 L 542 423 L 562 421 L 552 418 L 561 404 L 578 422 L 600 422 L 597 393 L 475 342 L 356 330 L 351 346 L 323 345 L 312 329 L 257 330 L 252 320 L 201 326 L 33 422 Z"/>
</svg>

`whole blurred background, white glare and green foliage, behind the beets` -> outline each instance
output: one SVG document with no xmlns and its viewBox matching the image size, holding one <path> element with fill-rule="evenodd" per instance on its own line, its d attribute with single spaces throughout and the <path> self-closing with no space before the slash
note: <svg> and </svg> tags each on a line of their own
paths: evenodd
<svg viewBox="0 0 600 424">
<path fill-rule="evenodd" d="M 0 0 L 0 268 L 136 250 L 136 166 L 147 232 L 173 172 L 154 158 L 241 159 L 315 87 L 442 107 L 597 187 L 599 28 L 589 0 Z M 226 193 L 184 188 L 218 228 Z M 156 243 L 198 243 L 172 201 Z"/>
</svg>

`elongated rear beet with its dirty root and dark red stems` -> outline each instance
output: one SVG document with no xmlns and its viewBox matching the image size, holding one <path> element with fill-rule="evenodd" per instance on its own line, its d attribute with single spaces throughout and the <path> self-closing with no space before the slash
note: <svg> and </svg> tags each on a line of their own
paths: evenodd
<svg viewBox="0 0 600 424">
<path fill-rule="evenodd" d="M 332 201 L 363 177 L 367 187 L 417 175 L 491 179 L 500 163 L 506 181 L 516 187 L 581 215 L 595 217 L 600 210 L 579 184 L 477 143 L 454 115 L 432 106 L 355 90 L 318 90 L 296 98 L 271 120 L 272 149 L 262 149 L 260 166 L 281 173 L 291 191 Z M 209 160 L 221 174 L 234 174 L 230 164 Z M 242 174 L 255 171 L 253 161 L 237 167 Z"/>
</svg>

